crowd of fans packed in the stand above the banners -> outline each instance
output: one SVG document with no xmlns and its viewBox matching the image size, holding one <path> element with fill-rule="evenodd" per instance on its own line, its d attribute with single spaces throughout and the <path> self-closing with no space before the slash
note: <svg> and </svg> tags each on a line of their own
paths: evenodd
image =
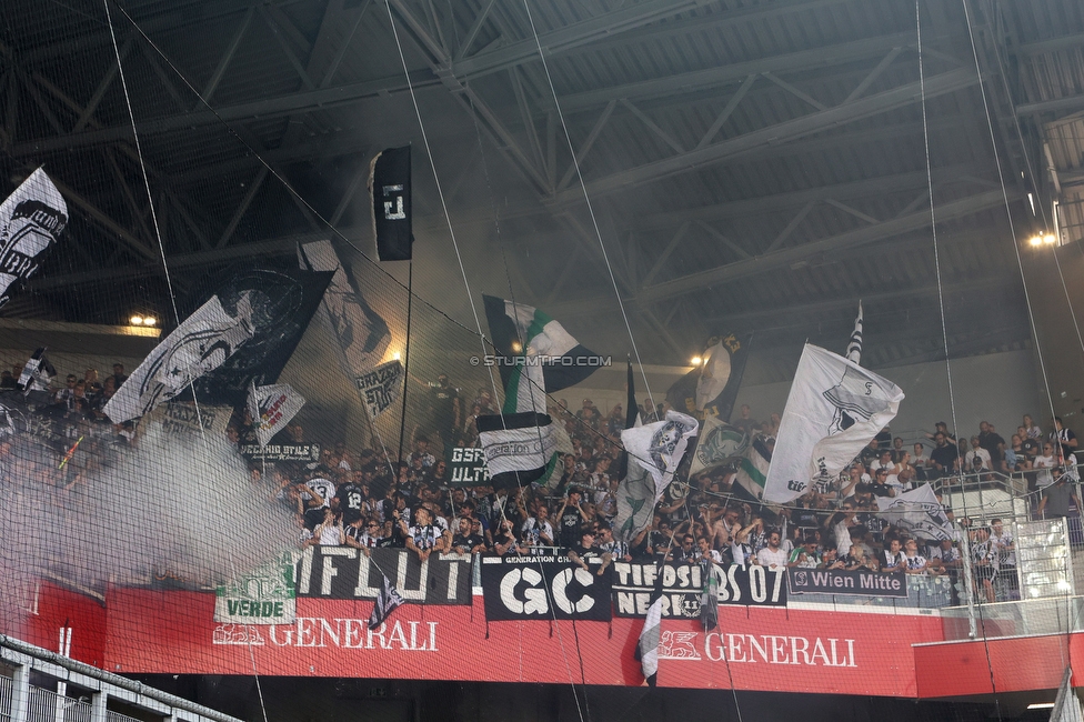
<svg viewBox="0 0 1084 722">
<path fill-rule="evenodd" d="M 82 379 L 68 375 L 63 388 L 49 392 L 47 405 L 71 424 L 97 422 L 116 440 L 136 443 L 131 425 L 111 425 L 102 413 L 127 379 L 122 365 L 113 371 L 101 381 L 93 369 Z M 4 371 L 0 389 L 13 388 L 16 378 Z M 319 461 L 311 463 L 252 461 L 251 483 L 270 503 L 293 514 L 302 546 L 405 548 L 421 559 L 433 552 L 531 555 L 563 549 L 575 561 L 596 555 L 604 564 L 658 559 L 935 576 L 960 574 L 968 561 L 963 550 L 970 549 L 974 586 L 986 601 L 1018 594 L 1010 525 L 997 519 L 982 524 L 956 520 L 945 509 L 954 539 L 919 539 L 886 523 L 876 513 L 876 500 L 926 481 L 937 481 L 940 489 L 963 474 L 980 480 L 1016 474 L 1035 490 L 1031 498 L 1036 514 L 1070 517 L 1072 504 L 1080 508 L 1071 483 L 1078 481 L 1075 434 L 1060 419 L 1044 432 L 1024 415 L 1007 442 L 985 421 L 977 434 L 960 439 L 939 422 L 933 432 L 911 443 L 885 429 L 837 480 L 785 507 L 763 505 L 744 493 L 735 484 L 736 464 L 689 477 L 686 460 L 651 525 L 625 542 L 613 532 L 618 469 L 625 463 L 620 443 L 625 413 L 620 404 L 608 414 L 590 399 L 574 412 L 564 400 L 551 408 L 573 448 L 562 460 L 560 480 L 508 490 L 451 483 L 451 450 L 476 447 L 476 417 L 496 412 L 484 389 L 465 407 L 460 393 L 443 374 L 430 384 L 428 421 L 414 429 L 411 452 L 401 462 L 383 448 L 354 450 L 340 440 L 322 444 Z M 644 422 L 665 412 L 665 404 L 652 407 L 646 401 L 639 409 Z M 763 438 L 770 449 L 779 424 L 777 414 L 755 421 L 747 405 L 732 421 L 747 438 Z M 289 424 L 283 434 L 293 442 L 322 441 L 307 439 L 299 423 Z M 253 443 L 252 419 L 235 415 L 228 437 L 239 449 Z M 78 483 L 78 473 L 63 483 Z M 966 546 L 961 543 L 964 534 Z"/>
</svg>

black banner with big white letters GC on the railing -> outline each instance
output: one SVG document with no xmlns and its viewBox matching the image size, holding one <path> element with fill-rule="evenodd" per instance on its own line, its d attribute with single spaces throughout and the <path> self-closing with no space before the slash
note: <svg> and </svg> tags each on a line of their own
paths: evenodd
<svg viewBox="0 0 1084 722">
<path fill-rule="evenodd" d="M 590 571 L 560 554 L 482 556 L 482 594 L 490 622 L 520 619 L 611 619 L 610 570 L 601 560 Z M 592 564 L 596 561 L 598 564 Z"/>
</svg>

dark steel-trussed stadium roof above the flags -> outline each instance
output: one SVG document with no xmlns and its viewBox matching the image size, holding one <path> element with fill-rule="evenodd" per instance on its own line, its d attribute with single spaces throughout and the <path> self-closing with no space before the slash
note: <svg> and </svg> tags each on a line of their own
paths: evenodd
<svg viewBox="0 0 1084 722">
<path fill-rule="evenodd" d="M 414 289 L 473 328 L 419 118 L 473 297 L 614 354 L 623 305 L 645 363 L 755 330 L 789 378 L 859 299 L 874 368 L 1028 348 L 1055 201 L 1081 255 L 1078 0 L 389 1 L 409 73 L 385 0 L 110 0 L 137 149 L 107 6 L 6 0 L 0 188 L 43 164 L 72 221 L 4 313 L 168 315 L 163 254 L 182 294 L 329 235 L 382 273 L 369 159 L 410 142 Z"/>
</svg>

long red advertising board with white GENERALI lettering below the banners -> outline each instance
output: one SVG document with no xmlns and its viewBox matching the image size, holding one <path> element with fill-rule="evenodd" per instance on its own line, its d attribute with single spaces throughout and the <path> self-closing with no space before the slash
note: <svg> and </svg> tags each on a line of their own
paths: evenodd
<svg viewBox="0 0 1084 722">
<path fill-rule="evenodd" d="M 113 589 L 103 605 L 42 583 L 16 635 L 57 651 L 70 629 L 72 658 L 128 674 L 643 683 L 643 620 L 486 622 L 473 602 L 404 604 L 370 632 L 369 601 L 299 599 L 292 624 L 220 624 L 213 594 Z M 696 620 L 663 620 L 659 684 L 944 698 L 1056 688 L 1065 660 L 1084 660 L 1084 634 L 945 642 L 943 621 L 723 605 L 706 634 Z"/>
</svg>

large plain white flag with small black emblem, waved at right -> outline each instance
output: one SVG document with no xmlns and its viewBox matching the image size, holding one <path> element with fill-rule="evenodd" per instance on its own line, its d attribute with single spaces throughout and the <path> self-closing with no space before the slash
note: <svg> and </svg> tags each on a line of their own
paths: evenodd
<svg viewBox="0 0 1084 722">
<path fill-rule="evenodd" d="M 809 343 L 786 398 L 764 483 L 764 499 L 783 503 L 843 471 L 895 418 L 903 391 L 887 379 Z"/>
</svg>

